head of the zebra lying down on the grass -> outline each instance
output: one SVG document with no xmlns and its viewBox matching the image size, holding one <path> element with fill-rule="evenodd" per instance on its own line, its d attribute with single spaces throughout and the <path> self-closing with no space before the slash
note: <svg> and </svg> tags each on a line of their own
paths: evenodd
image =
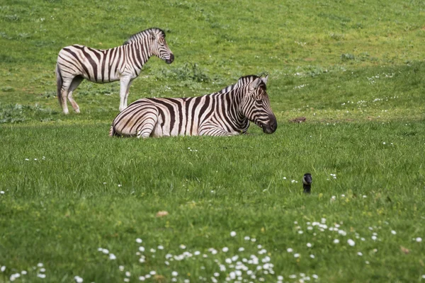
<svg viewBox="0 0 425 283">
<path fill-rule="evenodd" d="M 255 76 L 254 76 L 255 77 Z M 268 75 L 264 78 L 256 77 L 245 88 L 242 98 L 241 112 L 249 121 L 254 122 L 266 134 L 273 134 L 278 127 L 276 116 L 271 111 L 270 100 L 266 93 Z"/>
</svg>

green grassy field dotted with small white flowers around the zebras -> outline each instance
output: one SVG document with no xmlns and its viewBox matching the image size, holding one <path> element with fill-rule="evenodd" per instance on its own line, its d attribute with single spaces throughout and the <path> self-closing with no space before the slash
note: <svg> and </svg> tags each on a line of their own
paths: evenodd
<svg viewBox="0 0 425 283">
<path fill-rule="evenodd" d="M 425 282 L 424 16 L 399 0 L 2 1 L 0 282 Z M 150 59 L 130 101 L 269 74 L 277 131 L 111 139 L 119 83 L 82 83 L 81 114 L 62 115 L 59 50 L 150 27 L 176 59 Z"/>
</svg>

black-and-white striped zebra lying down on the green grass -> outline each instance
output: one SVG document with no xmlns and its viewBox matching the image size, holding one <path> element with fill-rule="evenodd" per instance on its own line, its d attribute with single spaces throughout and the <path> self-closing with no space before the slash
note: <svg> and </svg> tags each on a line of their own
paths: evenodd
<svg viewBox="0 0 425 283">
<path fill-rule="evenodd" d="M 266 93 L 268 76 L 242 76 L 217 93 L 192 98 L 142 98 L 113 120 L 109 135 L 135 137 L 232 136 L 249 122 L 271 134 L 278 124 Z"/>
</svg>

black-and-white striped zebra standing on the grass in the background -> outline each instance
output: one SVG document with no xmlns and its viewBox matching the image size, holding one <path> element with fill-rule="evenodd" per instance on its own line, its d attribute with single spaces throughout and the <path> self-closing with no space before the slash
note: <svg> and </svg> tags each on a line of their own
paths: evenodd
<svg viewBox="0 0 425 283">
<path fill-rule="evenodd" d="M 57 57 L 57 98 L 64 114 L 68 114 L 67 98 L 75 112 L 79 106 L 72 92 L 81 81 L 94 83 L 120 81 L 120 111 L 127 107 L 128 91 L 132 80 L 139 76 L 142 66 L 155 55 L 166 64 L 174 61 L 174 55 L 165 41 L 165 33 L 159 28 L 149 28 L 132 35 L 124 45 L 108 50 L 98 50 L 83 45 L 62 48 Z"/>
</svg>

